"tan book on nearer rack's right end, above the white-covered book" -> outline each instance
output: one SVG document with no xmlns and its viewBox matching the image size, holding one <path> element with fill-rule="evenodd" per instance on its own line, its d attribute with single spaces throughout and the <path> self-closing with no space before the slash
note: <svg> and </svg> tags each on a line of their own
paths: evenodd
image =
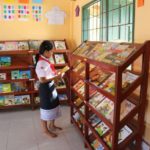
<svg viewBox="0 0 150 150">
<path fill-rule="evenodd" d="M 135 108 L 135 104 L 131 103 L 127 99 L 125 99 L 121 103 L 120 109 L 120 120 L 122 120 L 128 113 L 130 113 Z"/>
</svg>

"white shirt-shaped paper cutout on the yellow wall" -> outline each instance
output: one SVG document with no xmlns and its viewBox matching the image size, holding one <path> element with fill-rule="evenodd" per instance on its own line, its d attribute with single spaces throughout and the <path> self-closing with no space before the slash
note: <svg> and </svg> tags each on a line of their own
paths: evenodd
<svg viewBox="0 0 150 150">
<path fill-rule="evenodd" d="M 55 6 L 45 14 L 45 17 L 48 19 L 48 24 L 64 24 L 66 13 Z"/>
</svg>

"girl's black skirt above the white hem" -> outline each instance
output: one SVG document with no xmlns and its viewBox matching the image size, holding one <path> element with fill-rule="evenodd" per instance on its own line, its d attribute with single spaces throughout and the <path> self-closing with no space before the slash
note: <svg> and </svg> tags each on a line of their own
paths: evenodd
<svg viewBox="0 0 150 150">
<path fill-rule="evenodd" d="M 50 110 L 59 105 L 59 98 L 53 81 L 40 83 L 39 96 L 41 109 Z"/>
</svg>

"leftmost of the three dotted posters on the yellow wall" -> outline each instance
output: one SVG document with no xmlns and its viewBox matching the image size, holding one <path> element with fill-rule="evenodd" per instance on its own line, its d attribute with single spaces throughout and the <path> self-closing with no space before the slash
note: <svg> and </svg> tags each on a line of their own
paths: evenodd
<svg viewBox="0 0 150 150">
<path fill-rule="evenodd" d="M 15 6 L 14 5 L 3 5 L 3 19 L 14 20 L 15 18 Z"/>
</svg>

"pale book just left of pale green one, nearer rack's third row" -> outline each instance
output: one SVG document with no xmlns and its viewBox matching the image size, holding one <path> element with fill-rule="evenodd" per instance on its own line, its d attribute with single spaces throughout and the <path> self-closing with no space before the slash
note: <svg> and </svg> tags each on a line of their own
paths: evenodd
<svg viewBox="0 0 150 150">
<path fill-rule="evenodd" d="M 89 100 L 89 103 L 95 108 L 105 98 L 100 92 L 96 92 Z"/>
</svg>

